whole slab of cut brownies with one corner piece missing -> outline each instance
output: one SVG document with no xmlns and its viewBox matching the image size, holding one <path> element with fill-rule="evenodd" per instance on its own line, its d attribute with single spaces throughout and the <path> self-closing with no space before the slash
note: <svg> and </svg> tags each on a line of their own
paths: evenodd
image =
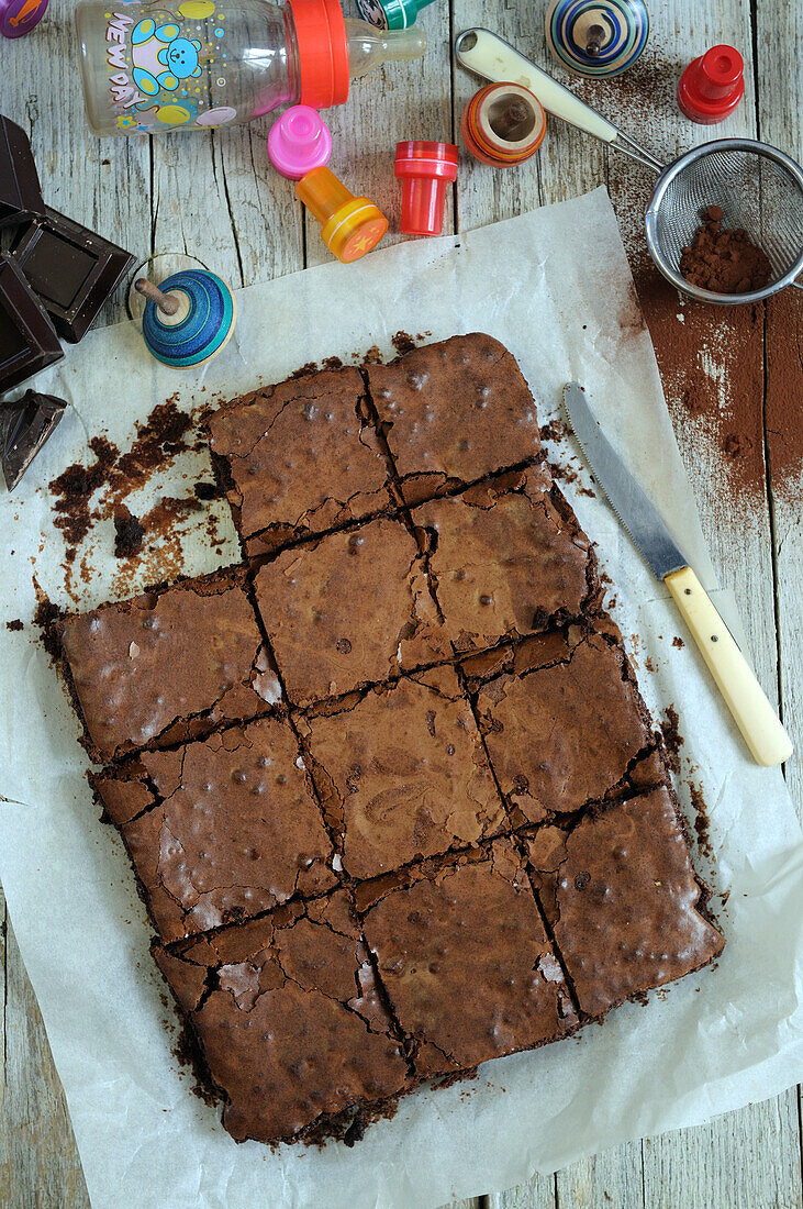
<svg viewBox="0 0 803 1209">
<path fill-rule="evenodd" d="M 243 565 L 60 623 L 155 958 L 237 1139 L 698 970 L 659 742 L 535 405 L 484 335 L 210 422 Z"/>
</svg>

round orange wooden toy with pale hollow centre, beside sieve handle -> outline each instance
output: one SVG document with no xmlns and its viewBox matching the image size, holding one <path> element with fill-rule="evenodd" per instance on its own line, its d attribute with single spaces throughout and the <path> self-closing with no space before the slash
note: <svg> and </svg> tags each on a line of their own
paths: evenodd
<svg viewBox="0 0 803 1209">
<path fill-rule="evenodd" d="M 518 83 L 489 83 L 462 111 L 460 133 L 467 150 L 491 168 L 524 163 L 541 146 L 547 117 L 541 102 Z"/>
</svg>

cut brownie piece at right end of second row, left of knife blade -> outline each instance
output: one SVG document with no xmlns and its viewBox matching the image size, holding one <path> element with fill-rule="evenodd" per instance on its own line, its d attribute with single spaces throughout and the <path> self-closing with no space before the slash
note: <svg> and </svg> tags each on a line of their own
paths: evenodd
<svg viewBox="0 0 803 1209">
<path fill-rule="evenodd" d="M 413 510 L 459 653 L 580 617 L 590 543 L 546 467 L 511 472 Z"/>
</svg>

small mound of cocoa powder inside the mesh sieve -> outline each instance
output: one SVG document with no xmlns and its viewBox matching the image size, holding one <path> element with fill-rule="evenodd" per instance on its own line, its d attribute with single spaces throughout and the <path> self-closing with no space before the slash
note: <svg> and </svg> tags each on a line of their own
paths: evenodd
<svg viewBox="0 0 803 1209">
<path fill-rule="evenodd" d="M 769 260 L 746 231 L 722 230 L 718 206 L 709 206 L 691 247 L 683 248 L 680 271 L 692 285 L 715 294 L 761 290 L 773 276 Z"/>
</svg>

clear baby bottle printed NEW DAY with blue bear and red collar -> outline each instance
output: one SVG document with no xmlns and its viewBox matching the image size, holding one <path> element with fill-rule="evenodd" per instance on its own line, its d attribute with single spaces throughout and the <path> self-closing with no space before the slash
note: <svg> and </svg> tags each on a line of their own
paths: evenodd
<svg viewBox="0 0 803 1209">
<path fill-rule="evenodd" d="M 80 0 L 81 77 L 95 134 L 209 129 L 278 105 L 341 105 L 349 79 L 417 59 L 418 29 L 345 21 L 339 0 Z"/>
</svg>

